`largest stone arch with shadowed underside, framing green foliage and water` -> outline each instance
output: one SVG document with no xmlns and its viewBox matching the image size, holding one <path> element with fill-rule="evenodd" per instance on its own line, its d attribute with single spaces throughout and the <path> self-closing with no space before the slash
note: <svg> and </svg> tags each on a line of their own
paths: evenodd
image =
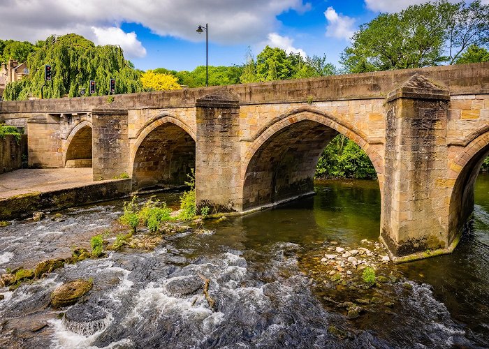
<svg viewBox="0 0 489 349">
<path fill-rule="evenodd" d="M 382 173 L 382 158 L 338 119 L 312 108 L 291 110 L 258 131 L 245 154 L 243 210 L 312 192 L 314 172 L 324 147 L 342 133 L 362 148 Z"/>
</svg>

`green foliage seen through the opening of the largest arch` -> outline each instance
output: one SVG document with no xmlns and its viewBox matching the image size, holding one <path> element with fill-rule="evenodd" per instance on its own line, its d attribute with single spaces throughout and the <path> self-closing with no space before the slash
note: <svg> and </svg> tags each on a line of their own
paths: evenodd
<svg viewBox="0 0 489 349">
<path fill-rule="evenodd" d="M 346 138 L 337 135 L 323 150 L 316 166 L 316 178 L 357 178 L 377 177 L 374 166 L 365 151 Z"/>
</svg>

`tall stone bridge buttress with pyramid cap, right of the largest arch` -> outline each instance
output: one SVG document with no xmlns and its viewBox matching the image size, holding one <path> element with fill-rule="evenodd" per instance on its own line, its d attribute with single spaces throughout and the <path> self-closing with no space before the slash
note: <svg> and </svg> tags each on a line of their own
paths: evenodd
<svg viewBox="0 0 489 349">
<path fill-rule="evenodd" d="M 418 74 L 386 100 L 381 238 L 397 262 L 426 257 L 427 251 L 449 252 L 444 185 L 449 101 L 448 89 Z"/>
</svg>

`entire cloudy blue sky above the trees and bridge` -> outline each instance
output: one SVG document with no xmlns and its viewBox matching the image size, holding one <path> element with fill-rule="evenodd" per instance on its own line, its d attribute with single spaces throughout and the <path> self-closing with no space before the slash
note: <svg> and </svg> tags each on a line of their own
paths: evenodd
<svg viewBox="0 0 489 349">
<path fill-rule="evenodd" d="M 458 0 L 449 0 L 458 1 Z M 489 0 L 482 0 L 489 3 Z M 136 68 L 193 70 L 245 61 L 265 45 L 322 56 L 337 65 L 360 24 L 425 0 L 0 0 L 0 39 L 44 40 L 76 33 L 119 45 Z M 46 9 L 49 10 L 46 10 Z"/>
</svg>

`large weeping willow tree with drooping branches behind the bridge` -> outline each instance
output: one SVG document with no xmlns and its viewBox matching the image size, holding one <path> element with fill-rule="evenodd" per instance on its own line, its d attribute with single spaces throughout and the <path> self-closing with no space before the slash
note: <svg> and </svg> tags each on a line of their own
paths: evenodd
<svg viewBox="0 0 489 349">
<path fill-rule="evenodd" d="M 110 78 L 116 79 L 116 94 L 143 91 L 138 70 L 124 59 L 119 46 L 96 46 L 76 34 L 50 36 L 39 46 L 27 58 L 29 77 L 6 86 L 3 93 L 6 101 L 27 99 L 29 95 L 40 97 L 45 64 L 51 66 L 52 81 L 46 83 L 43 98 L 77 97 L 82 88 L 88 94 L 90 80 L 96 82 L 92 96 L 105 95 Z"/>
</svg>

